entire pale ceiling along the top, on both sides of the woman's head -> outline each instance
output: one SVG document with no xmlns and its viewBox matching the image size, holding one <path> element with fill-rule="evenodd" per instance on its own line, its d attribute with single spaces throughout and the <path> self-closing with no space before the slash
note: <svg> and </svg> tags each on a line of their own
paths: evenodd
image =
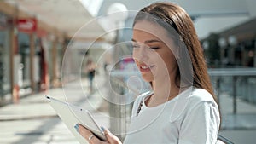
<svg viewBox="0 0 256 144">
<path fill-rule="evenodd" d="M 4 0 L 55 27 L 69 37 L 96 39 L 106 32 L 104 20 L 113 3 L 124 3 L 128 10 L 142 9 L 154 0 Z M 195 19 L 199 37 L 219 32 L 252 19 L 256 15 L 255 0 L 172 0 Z M 102 25 L 104 24 L 105 25 Z"/>
</svg>

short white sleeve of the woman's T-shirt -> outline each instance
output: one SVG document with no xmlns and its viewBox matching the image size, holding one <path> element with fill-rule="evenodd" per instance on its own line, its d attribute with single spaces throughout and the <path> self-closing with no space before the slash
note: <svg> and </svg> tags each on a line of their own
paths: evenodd
<svg viewBox="0 0 256 144">
<path fill-rule="evenodd" d="M 183 118 L 178 144 L 213 144 L 217 141 L 220 119 L 214 101 L 202 101 Z"/>
</svg>

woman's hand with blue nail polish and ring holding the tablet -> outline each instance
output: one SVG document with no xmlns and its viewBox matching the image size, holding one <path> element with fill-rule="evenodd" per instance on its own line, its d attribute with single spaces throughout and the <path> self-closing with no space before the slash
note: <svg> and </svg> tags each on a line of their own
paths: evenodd
<svg viewBox="0 0 256 144">
<path fill-rule="evenodd" d="M 90 132 L 90 130 L 84 128 L 84 126 L 81 124 L 75 125 L 75 128 L 80 135 L 82 135 L 87 141 L 89 141 L 90 144 L 121 144 L 122 143 L 117 136 L 113 135 L 109 130 L 105 130 L 103 127 L 101 127 L 101 129 L 104 132 L 104 135 L 106 136 L 107 141 L 100 141 L 96 136 L 94 136 Z"/>
</svg>

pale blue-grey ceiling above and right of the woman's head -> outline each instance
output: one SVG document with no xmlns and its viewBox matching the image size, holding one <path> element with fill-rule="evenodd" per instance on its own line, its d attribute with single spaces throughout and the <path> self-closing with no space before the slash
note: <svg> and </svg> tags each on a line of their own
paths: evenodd
<svg viewBox="0 0 256 144">
<path fill-rule="evenodd" d="M 195 23 L 200 38 L 221 32 L 256 17 L 255 0 L 168 0 L 185 9 Z M 124 3 L 128 10 L 139 10 L 155 0 L 104 0 L 98 15 L 106 14 L 113 3 Z"/>
</svg>

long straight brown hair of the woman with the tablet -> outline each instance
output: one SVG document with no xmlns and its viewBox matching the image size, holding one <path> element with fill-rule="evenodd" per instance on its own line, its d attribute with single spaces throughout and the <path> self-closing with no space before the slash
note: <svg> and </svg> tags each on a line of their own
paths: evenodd
<svg viewBox="0 0 256 144">
<path fill-rule="evenodd" d="M 177 60 L 180 64 L 176 78 L 180 80 L 181 72 L 185 72 L 186 68 L 188 69 L 188 67 L 183 67 L 184 71 L 182 71 L 180 66 L 183 66 L 183 64 L 185 64 L 184 62 L 190 62 L 192 64 L 191 71 L 193 71 L 191 72 L 190 77 L 193 79 L 191 80 L 192 82 L 189 83 L 193 84 L 196 88 L 206 89 L 210 94 L 212 94 L 214 100 L 217 101 L 212 89 L 211 80 L 207 73 L 207 64 L 203 55 L 201 43 L 196 35 L 195 27 L 193 21 L 189 17 L 189 14 L 187 14 L 183 8 L 174 3 L 153 3 L 137 13 L 133 26 L 139 20 L 149 20 L 148 16 L 145 16 L 145 13 L 156 17 L 158 20 L 154 20 L 154 22 L 160 26 L 166 28 L 166 25 L 164 25 L 162 21 L 167 23 L 167 26 L 171 26 L 178 34 L 178 41 L 182 42 L 184 47 L 187 49 L 183 51 L 187 51 L 187 55 L 190 57 L 189 61 Z M 166 30 L 168 31 L 169 29 Z"/>
</svg>

